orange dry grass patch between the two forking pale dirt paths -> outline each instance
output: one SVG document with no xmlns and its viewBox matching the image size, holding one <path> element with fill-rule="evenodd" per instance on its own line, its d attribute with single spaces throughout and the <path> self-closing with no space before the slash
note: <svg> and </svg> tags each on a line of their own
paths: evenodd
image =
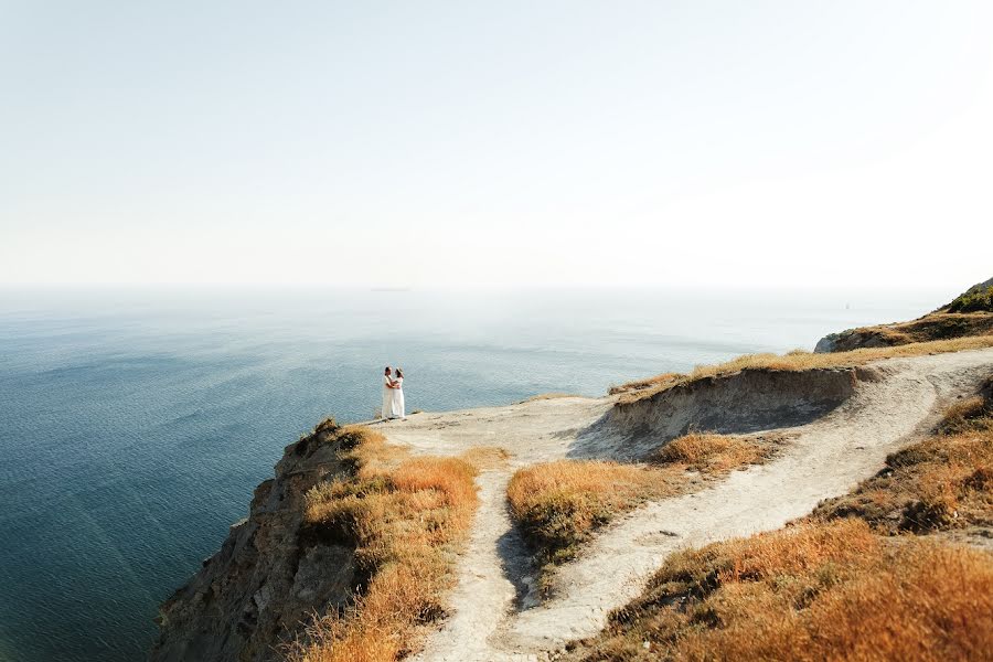
<svg viewBox="0 0 993 662">
<path fill-rule="evenodd" d="M 692 434 L 673 439 L 649 465 L 558 460 L 519 470 L 508 485 L 511 512 L 546 569 L 573 558 L 591 533 L 647 500 L 692 491 L 703 480 L 768 458 L 780 438 Z M 701 476 L 687 472 L 692 469 Z"/>
</svg>

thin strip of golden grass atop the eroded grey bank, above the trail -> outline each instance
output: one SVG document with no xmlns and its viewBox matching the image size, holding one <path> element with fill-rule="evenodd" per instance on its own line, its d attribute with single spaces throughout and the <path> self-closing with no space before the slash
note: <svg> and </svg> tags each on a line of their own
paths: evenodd
<svg viewBox="0 0 993 662">
<path fill-rule="evenodd" d="M 851 352 L 833 352 L 829 354 L 814 354 L 794 350 L 788 354 L 745 354 L 727 363 L 717 365 L 697 366 L 686 375 L 676 378 L 661 381 L 653 385 L 623 393 L 619 404 L 629 404 L 644 399 L 681 384 L 688 384 L 705 377 L 722 377 L 739 373 L 745 370 L 770 370 L 801 372 L 807 370 L 823 370 L 832 367 L 854 367 L 882 359 L 896 359 L 900 356 L 921 356 L 925 354 L 942 354 L 947 352 L 960 352 L 963 350 L 978 350 L 993 346 L 993 335 L 979 335 L 970 338 L 955 338 L 951 340 L 936 340 L 931 342 L 918 342 L 891 348 L 871 348 L 852 350 Z"/>
</svg>

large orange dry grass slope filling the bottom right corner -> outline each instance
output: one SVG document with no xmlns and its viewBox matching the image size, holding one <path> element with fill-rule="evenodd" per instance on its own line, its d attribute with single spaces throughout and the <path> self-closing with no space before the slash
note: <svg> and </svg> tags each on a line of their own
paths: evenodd
<svg viewBox="0 0 993 662">
<path fill-rule="evenodd" d="M 993 557 L 841 521 L 671 556 L 572 658 L 938 661 L 991 650 Z"/>
</svg>

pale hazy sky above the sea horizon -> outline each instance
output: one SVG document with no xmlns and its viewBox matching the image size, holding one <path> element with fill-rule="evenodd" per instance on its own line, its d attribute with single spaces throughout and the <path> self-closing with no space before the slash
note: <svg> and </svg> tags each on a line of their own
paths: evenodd
<svg viewBox="0 0 993 662">
<path fill-rule="evenodd" d="M 993 2 L 0 0 L 0 284 L 993 276 Z"/>
</svg>

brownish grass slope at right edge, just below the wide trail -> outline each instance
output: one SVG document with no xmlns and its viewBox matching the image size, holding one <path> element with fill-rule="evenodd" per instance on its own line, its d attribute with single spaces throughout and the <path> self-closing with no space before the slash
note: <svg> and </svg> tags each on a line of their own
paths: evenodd
<svg viewBox="0 0 993 662">
<path fill-rule="evenodd" d="M 978 396 L 950 407 L 938 429 L 811 516 L 858 517 L 888 534 L 993 526 L 993 401 Z"/>
</svg>

